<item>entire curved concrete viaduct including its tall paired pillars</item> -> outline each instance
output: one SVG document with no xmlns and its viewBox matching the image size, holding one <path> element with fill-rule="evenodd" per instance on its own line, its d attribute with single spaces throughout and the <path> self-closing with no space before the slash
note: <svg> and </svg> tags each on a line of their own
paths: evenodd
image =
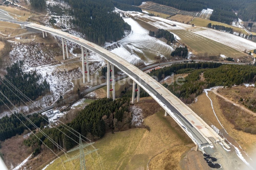
<svg viewBox="0 0 256 170">
<path fill-rule="evenodd" d="M 226 150 L 230 149 L 229 145 L 225 143 L 225 139 L 222 139 L 207 123 L 205 123 L 196 113 L 194 113 L 186 104 L 179 100 L 174 94 L 167 90 L 155 79 L 150 77 L 145 72 L 141 71 L 134 65 L 130 64 L 123 58 L 110 51 L 92 43 L 87 40 L 81 39 L 69 33 L 61 30 L 49 28 L 46 26 L 38 25 L 35 23 L 20 22 L 12 19 L 0 18 L 0 21 L 7 21 L 22 25 L 24 27 L 40 30 L 43 33 L 43 37 L 47 36 L 47 33 L 55 34 L 62 38 L 62 50 L 63 59 L 68 56 L 67 42 L 66 40 L 77 43 L 82 49 L 82 75 L 83 83 L 90 82 L 90 73 L 88 66 L 88 54 L 87 50 L 93 51 L 100 55 L 107 61 L 107 98 L 110 98 L 110 91 L 113 94 L 113 100 L 115 100 L 115 82 L 114 82 L 114 66 L 123 71 L 127 76 L 133 80 L 133 93 L 132 103 L 135 103 L 135 92 L 138 96 L 140 94 L 140 88 L 144 89 L 152 98 L 161 105 L 165 110 L 165 116 L 168 114 L 175 120 L 175 122 L 185 131 L 185 133 L 191 138 L 196 145 L 196 150 L 201 150 L 203 153 L 212 154 L 216 156 L 225 157 L 222 165 L 226 164 L 226 167 L 237 167 L 233 164 L 233 161 L 227 162 L 226 160 L 236 160 L 237 164 L 244 164 L 244 161 L 238 158 L 235 152 L 228 153 Z M 111 68 L 110 68 L 111 67 Z M 111 72 L 111 77 L 110 77 Z M 112 88 L 110 89 L 110 82 L 112 82 Z M 137 89 L 136 89 L 137 84 Z M 137 98 L 137 102 L 140 98 Z M 225 147 L 225 148 L 224 148 Z M 230 157 L 232 155 L 232 157 Z M 230 158 L 229 158 L 230 157 Z"/>
</svg>

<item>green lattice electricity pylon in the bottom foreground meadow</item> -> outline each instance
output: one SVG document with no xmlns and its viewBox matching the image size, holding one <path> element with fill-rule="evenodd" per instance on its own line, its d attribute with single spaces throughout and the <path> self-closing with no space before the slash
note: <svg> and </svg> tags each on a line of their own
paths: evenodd
<svg viewBox="0 0 256 170">
<path fill-rule="evenodd" d="M 75 154 L 74 156 L 72 157 L 69 157 L 66 161 L 64 161 L 65 163 L 66 162 L 69 162 L 69 161 L 73 161 L 75 159 L 80 159 L 80 170 L 86 170 L 86 165 L 85 165 L 85 156 L 86 155 L 89 155 L 90 153 L 93 153 L 93 152 L 96 152 L 98 149 L 93 149 L 93 150 L 86 150 L 84 151 L 84 148 L 92 145 L 94 142 L 91 142 L 91 143 L 82 143 L 82 139 L 81 139 L 81 135 L 79 135 L 79 145 L 74 147 L 73 149 L 67 151 L 67 153 L 69 152 L 73 152 L 73 151 L 76 151 L 79 149 L 79 153 Z"/>
</svg>

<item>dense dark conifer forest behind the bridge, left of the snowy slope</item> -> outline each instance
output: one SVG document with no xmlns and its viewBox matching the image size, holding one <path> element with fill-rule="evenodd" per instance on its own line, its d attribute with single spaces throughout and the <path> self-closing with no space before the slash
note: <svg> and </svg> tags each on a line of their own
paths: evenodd
<svg viewBox="0 0 256 170">
<path fill-rule="evenodd" d="M 73 24 L 78 26 L 78 31 L 86 35 L 86 39 L 97 44 L 117 41 L 124 35 L 124 30 L 131 30 L 128 25 L 114 10 L 114 3 L 111 0 L 65 0 L 71 5 L 71 15 L 76 18 Z M 133 10 L 127 4 L 116 3 L 121 9 Z M 129 8 L 130 7 L 130 8 Z"/>
</svg>

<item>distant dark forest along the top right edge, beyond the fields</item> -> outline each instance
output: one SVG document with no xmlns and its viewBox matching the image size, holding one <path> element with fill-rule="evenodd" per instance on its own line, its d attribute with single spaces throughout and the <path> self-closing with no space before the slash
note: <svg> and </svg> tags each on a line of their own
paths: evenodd
<svg viewBox="0 0 256 170">
<path fill-rule="evenodd" d="M 130 5 L 140 5 L 143 0 L 115 0 Z M 229 24 L 237 19 L 234 11 L 238 11 L 238 17 L 244 21 L 256 21 L 256 2 L 254 0 L 152 0 L 151 2 L 174 7 L 186 11 L 201 11 L 202 9 L 214 9 L 210 20 Z"/>
</svg>

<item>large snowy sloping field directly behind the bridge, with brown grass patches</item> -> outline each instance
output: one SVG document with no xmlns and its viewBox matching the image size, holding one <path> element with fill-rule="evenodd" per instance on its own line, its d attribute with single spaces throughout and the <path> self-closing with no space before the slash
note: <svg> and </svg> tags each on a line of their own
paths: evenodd
<svg viewBox="0 0 256 170">
<path fill-rule="evenodd" d="M 136 20 L 126 18 L 124 21 L 131 25 L 132 31 L 130 35 L 118 42 L 121 46 L 111 50 L 112 53 L 119 55 L 128 62 L 140 60 L 141 56 L 139 55 L 142 55 L 145 64 L 151 64 L 154 62 L 154 56 L 164 56 L 173 50 L 165 42 L 149 36 L 149 30 L 140 26 Z"/>
</svg>

